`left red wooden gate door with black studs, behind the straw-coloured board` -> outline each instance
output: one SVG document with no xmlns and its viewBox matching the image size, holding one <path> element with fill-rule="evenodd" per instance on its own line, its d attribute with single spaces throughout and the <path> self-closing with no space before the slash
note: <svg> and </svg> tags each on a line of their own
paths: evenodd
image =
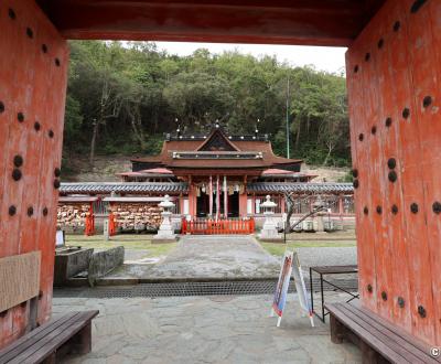
<svg viewBox="0 0 441 364">
<path fill-rule="evenodd" d="M 33 0 L 0 2 L 0 258 L 41 250 L 39 322 L 51 315 L 67 46 Z M 0 317 L 0 347 L 29 304 Z"/>
</svg>

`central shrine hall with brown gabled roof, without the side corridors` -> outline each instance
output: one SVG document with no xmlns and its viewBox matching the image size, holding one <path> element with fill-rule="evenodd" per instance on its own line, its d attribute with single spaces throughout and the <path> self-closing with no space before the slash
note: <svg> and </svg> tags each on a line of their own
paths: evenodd
<svg viewBox="0 0 441 364">
<path fill-rule="evenodd" d="M 207 135 L 166 135 L 159 156 L 137 158 L 123 181 L 179 181 L 187 185 L 181 213 L 197 217 L 239 217 L 259 213 L 254 182 L 309 182 L 302 161 L 277 157 L 268 136 L 227 135 L 216 122 Z M 256 191 L 252 191 L 256 192 Z M 280 199 L 279 210 L 283 210 Z"/>
</svg>

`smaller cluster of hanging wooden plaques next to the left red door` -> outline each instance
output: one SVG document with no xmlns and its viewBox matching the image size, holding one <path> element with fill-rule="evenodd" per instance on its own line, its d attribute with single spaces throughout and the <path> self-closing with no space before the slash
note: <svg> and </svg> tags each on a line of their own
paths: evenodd
<svg viewBox="0 0 441 364">
<path fill-rule="evenodd" d="M 67 233 L 82 233 L 90 210 L 87 203 L 63 203 L 57 207 L 56 226 Z"/>
</svg>

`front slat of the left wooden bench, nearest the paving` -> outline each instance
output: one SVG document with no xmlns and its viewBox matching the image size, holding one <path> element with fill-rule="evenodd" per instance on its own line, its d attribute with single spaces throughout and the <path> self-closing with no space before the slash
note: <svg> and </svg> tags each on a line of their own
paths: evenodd
<svg viewBox="0 0 441 364">
<path fill-rule="evenodd" d="M 15 356 L 9 364 L 40 363 L 82 330 L 87 323 L 98 314 L 98 311 L 77 312 L 69 320 L 52 330 L 44 338 L 33 343 Z"/>
</svg>

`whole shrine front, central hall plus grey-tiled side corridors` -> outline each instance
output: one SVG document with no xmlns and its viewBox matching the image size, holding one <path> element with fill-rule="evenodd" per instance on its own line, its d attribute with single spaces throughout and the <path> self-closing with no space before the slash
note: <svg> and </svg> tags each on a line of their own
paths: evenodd
<svg viewBox="0 0 441 364">
<path fill-rule="evenodd" d="M 165 194 L 174 218 L 262 217 L 266 195 L 287 211 L 284 193 L 298 196 L 294 214 L 311 211 L 318 195 L 331 215 L 353 216 L 351 183 L 314 183 L 302 161 L 273 153 L 267 135 L 229 135 L 218 122 L 205 135 L 168 133 L 158 156 L 135 158 L 120 182 L 62 183 L 58 226 L 83 226 L 86 216 L 112 213 L 123 229 L 158 227 Z M 75 206 L 76 205 L 76 206 Z M 95 217 L 94 217 L 95 218 Z M 342 220 L 343 221 L 343 220 Z"/>
</svg>

